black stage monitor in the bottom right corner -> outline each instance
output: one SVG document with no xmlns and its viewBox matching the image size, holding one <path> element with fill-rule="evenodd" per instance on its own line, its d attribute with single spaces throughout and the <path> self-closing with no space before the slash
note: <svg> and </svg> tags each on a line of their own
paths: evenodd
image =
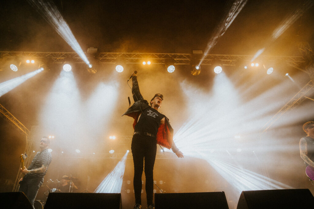
<svg viewBox="0 0 314 209">
<path fill-rule="evenodd" d="M 313 208 L 314 197 L 308 189 L 242 191 L 237 209 Z"/>
</svg>

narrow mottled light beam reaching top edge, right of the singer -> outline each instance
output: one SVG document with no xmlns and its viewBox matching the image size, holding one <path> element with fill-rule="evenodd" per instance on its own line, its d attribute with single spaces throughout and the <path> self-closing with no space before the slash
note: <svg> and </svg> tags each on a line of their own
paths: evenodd
<svg viewBox="0 0 314 209">
<path fill-rule="evenodd" d="M 207 43 L 207 48 L 203 54 L 203 57 L 198 65 L 201 65 L 208 52 L 216 45 L 218 39 L 226 32 L 233 20 L 241 12 L 242 8 L 245 6 L 247 0 L 236 0 L 232 7 L 230 8 L 226 17 L 220 22 L 219 27 L 216 29 L 215 34 Z"/>
</svg>

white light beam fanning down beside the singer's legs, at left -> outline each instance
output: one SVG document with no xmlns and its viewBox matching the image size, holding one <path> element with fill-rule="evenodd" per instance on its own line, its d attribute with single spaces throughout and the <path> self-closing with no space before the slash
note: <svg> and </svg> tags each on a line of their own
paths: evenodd
<svg viewBox="0 0 314 209">
<path fill-rule="evenodd" d="M 124 154 L 116 167 L 106 176 L 94 191 L 95 193 L 120 193 L 125 170 L 125 162 L 129 150 Z"/>
</svg>

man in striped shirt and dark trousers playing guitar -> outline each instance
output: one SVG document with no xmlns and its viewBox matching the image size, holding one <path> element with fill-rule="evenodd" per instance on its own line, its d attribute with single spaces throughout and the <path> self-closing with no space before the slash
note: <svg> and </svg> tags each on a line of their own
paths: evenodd
<svg viewBox="0 0 314 209">
<path fill-rule="evenodd" d="M 35 197 L 39 190 L 39 187 L 44 182 L 44 176 L 48 170 L 48 166 L 51 162 L 51 153 L 48 151 L 50 139 L 44 136 L 40 141 L 40 152 L 37 152 L 32 163 L 28 168 L 24 166 L 21 168 L 21 172 L 26 174 L 23 180 L 20 181 L 19 191 L 29 199 L 30 203 L 34 207 Z"/>
</svg>

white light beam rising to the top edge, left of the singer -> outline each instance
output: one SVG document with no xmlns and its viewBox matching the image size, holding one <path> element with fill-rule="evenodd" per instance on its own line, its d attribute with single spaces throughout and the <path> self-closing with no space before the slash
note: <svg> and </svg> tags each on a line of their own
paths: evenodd
<svg viewBox="0 0 314 209">
<path fill-rule="evenodd" d="M 49 0 L 28 0 L 41 16 L 57 31 L 59 35 L 72 47 L 72 49 L 89 65 L 89 61 L 75 39 L 67 22 L 63 19 L 57 6 Z"/>
</svg>

